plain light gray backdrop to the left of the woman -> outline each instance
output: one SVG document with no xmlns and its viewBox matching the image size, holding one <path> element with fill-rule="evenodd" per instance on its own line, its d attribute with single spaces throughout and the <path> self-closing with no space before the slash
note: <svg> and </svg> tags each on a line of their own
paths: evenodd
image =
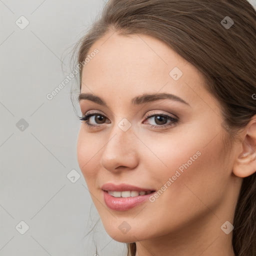
<svg viewBox="0 0 256 256">
<path fill-rule="evenodd" d="M 68 56 L 63 60 L 67 47 L 104 5 L 103 0 L 0 0 L 0 256 L 95 252 L 93 236 L 84 237 L 99 217 L 76 160 L 80 121 L 69 98 L 76 81 L 51 100 L 46 94 L 70 73 Z M 24 29 L 15 23 L 21 15 L 29 21 Z M 67 178 L 73 169 L 74 183 Z M 24 234 L 21 220 L 29 226 Z M 126 245 L 97 223 L 91 234 L 98 254 L 125 255 Z"/>
</svg>

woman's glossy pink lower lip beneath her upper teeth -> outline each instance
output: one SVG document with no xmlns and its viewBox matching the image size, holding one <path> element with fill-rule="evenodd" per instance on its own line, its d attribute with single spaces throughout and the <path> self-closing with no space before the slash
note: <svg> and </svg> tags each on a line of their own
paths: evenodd
<svg viewBox="0 0 256 256">
<path fill-rule="evenodd" d="M 147 200 L 154 192 L 130 197 L 114 197 L 103 191 L 105 204 L 112 210 L 128 210 Z"/>
</svg>

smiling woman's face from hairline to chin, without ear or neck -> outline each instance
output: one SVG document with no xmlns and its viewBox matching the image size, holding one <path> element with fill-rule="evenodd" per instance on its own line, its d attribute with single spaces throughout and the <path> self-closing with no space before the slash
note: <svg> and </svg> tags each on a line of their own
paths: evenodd
<svg viewBox="0 0 256 256">
<path fill-rule="evenodd" d="M 226 152 L 220 106 L 202 75 L 146 35 L 109 32 L 88 54 L 95 48 L 83 67 L 81 93 L 101 103 L 80 96 L 81 113 L 94 115 L 81 123 L 77 158 L 107 233 L 131 242 L 199 230 L 206 219 L 220 229 L 233 206 L 233 154 Z M 120 198 L 101 189 L 106 183 L 156 192 Z M 117 196 L 139 190 L 104 188 Z"/>
</svg>

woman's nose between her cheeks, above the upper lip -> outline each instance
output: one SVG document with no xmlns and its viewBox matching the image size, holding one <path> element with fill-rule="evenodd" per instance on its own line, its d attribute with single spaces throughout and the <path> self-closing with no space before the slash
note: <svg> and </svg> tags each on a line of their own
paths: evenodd
<svg viewBox="0 0 256 256">
<path fill-rule="evenodd" d="M 102 149 L 100 164 L 111 172 L 134 169 L 138 164 L 136 140 L 131 128 L 123 131 L 116 125 Z"/>
</svg>

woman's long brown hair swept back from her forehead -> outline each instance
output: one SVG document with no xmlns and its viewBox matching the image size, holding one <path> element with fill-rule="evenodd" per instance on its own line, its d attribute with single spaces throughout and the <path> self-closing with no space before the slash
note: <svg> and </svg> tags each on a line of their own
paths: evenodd
<svg viewBox="0 0 256 256">
<path fill-rule="evenodd" d="M 234 22 L 231 27 L 224 26 L 226 16 Z M 110 30 L 150 35 L 197 67 L 205 88 L 221 105 L 230 141 L 256 114 L 252 97 L 256 93 L 256 11 L 246 0 L 109 0 L 100 18 L 76 44 L 77 63 Z M 80 88 L 81 72 L 82 67 Z M 253 173 L 243 178 L 234 212 L 236 256 L 256 255 L 255 194 Z M 134 256 L 135 242 L 127 247 L 127 256 Z"/>
</svg>

